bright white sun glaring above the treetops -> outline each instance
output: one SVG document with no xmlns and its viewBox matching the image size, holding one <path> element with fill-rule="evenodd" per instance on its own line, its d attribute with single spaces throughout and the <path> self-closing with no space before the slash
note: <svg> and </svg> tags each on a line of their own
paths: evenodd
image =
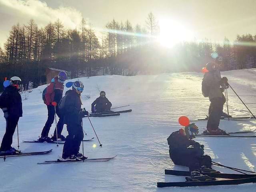
<svg viewBox="0 0 256 192">
<path fill-rule="evenodd" d="M 190 41 L 193 38 L 192 31 L 188 30 L 179 22 L 173 20 L 159 20 L 160 34 L 157 41 L 163 46 L 171 48 L 183 41 Z"/>
</svg>

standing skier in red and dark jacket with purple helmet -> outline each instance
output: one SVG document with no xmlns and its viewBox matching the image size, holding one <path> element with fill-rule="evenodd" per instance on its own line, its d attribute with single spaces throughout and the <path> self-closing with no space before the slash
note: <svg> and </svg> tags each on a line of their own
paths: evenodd
<svg viewBox="0 0 256 192">
<path fill-rule="evenodd" d="M 58 104 L 62 98 L 63 89 L 64 89 L 63 83 L 66 79 L 67 79 L 66 72 L 60 72 L 58 76 L 54 78 L 54 81 L 51 82 L 50 85 L 46 88 L 46 92 L 44 95 L 44 98 L 45 98 L 44 103 L 47 106 L 48 118 L 42 130 L 41 137 L 38 139 L 38 141 L 40 142 L 51 142 L 52 140 L 57 139 L 56 128 L 55 128 L 54 136 L 52 137 L 52 139 L 48 137 L 50 128 L 52 126 L 52 123 L 54 122 L 55 112 L 59 117 L 58 124 L 57 124 L 58 139 L 65 140 L 65 137 L 61 134 L 64 124 L 63 124 L 63 118 L 59 111 Z"/>
</svg>

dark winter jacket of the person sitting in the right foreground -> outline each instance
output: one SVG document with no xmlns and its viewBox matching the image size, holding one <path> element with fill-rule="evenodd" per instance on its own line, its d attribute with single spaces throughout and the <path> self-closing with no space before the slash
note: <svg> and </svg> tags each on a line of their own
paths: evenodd
<svg viewBox="0 0 256 192">
<path fill-rule="evenodd" d="M 186 136 L 179 133 L 179 131 L 173 132 L 167 139 L 169 145 L 170 158 L 178 158 L 175 157 L 177 154 L 188 154 L 188 150 L 190 152 L 203 154 L 203 149 L 200 149 L 200 144 L 195 142 L 194 140 L 188 139 Z M 188 148 L 192 146 L 191 148 Z"/>
</svg>

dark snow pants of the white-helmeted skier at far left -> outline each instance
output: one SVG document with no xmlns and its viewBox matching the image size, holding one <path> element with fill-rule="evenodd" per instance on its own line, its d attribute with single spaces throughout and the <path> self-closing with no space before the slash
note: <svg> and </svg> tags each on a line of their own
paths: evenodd
<svg viewBox="0 0 256 192">
<path fill-rule="evenodd" d="M 4 134 L 0 151 L 7 151 L 12 145 L 12 136 L 15 132 L 20 117 L 8 117 L 6 118 L 6 132 Z"/>
</svg>

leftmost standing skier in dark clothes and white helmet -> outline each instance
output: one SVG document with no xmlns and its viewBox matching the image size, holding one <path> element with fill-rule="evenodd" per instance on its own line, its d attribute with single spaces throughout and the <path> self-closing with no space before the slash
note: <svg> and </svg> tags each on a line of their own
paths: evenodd
<svg viewBox="0 0 256 192">
<path fill-rule="evenodd" d="M 10 85 L 6 87 L 0 96 L 0 108 L 3 110 L 6 120 L 6 132 L 0 147 L 0 154 L 16 154 L 20 152 L 11 146 L 15 128 L 19 118 L 22 117 L 22 99 L 19 93 L 20 84 L 21 79 L 19 77 L 12 77 Z"/>
</svg>

